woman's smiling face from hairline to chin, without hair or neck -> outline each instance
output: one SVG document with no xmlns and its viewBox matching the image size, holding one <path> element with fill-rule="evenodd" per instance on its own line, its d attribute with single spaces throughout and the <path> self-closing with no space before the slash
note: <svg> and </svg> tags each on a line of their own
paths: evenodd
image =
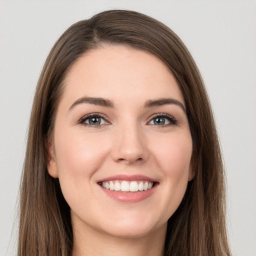
<svg viewBox="0 0 256 256">
<path fill-rule="evenodd" d="M 157 57 L 105 46 L 67 73 L 48 171 L 76 229 L 121 237 L 165 230 L 192 179 L 179 87 Z"/>
</svg>

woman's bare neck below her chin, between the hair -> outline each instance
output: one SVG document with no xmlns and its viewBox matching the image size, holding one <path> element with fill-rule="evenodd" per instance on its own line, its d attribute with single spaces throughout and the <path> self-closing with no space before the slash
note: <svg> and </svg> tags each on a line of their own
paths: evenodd
<svg viewBox="0 0 256 256">
<path fill-rule="evenodd" d="M 166 226 L 140 237 L 116 237 L 85 226 L 73 225 L 72 256 L 163 256 Z"/>
</svg>

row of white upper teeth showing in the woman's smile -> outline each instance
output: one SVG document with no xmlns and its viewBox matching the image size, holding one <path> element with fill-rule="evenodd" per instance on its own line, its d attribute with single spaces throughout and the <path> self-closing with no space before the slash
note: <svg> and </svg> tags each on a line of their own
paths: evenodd
<svg viewBox="0 0 256 256">
<path fill-rule="evenodd" d="M 101 186 L 115 191 L 123 191 L 123 192 L 136 192 L 151 189 L 153 186 L 153 182 L 151 181 L 126 181 L 122 180 L 121 183 L 118 180 L 109 180 L 103 181 Z"/>
</svg>

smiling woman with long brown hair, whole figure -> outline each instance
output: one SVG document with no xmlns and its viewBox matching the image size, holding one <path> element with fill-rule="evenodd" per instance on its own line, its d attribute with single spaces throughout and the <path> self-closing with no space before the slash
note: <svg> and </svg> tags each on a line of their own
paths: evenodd
<svg viewBox="0 0 256 256">
<path fill-rule="evenodd" d="M 230 255 L 210 104 L 182 41 L 108 10 L 51 49 L 31 112 L 19 255 Z"/>
</svg>

